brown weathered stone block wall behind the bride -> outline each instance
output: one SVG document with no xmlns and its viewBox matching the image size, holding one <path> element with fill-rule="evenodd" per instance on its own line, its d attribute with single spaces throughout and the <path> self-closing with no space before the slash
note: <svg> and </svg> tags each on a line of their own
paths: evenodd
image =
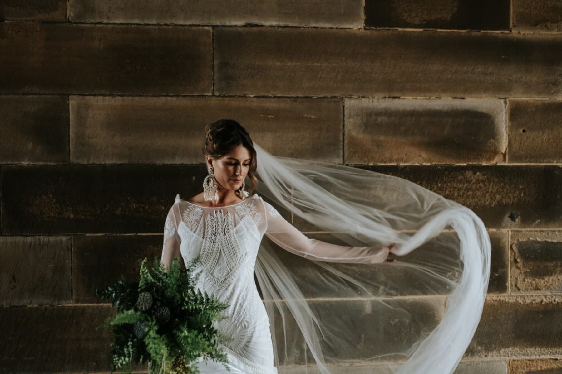
<svg viewBox="0 0 562 374">
<path fill-rule="evenodd" d="M 562 373 L 559 0 L 0 7 L 0 373 L 109 372 L 93 288 L 160 254 L 220 118 L 473 209 L 492 269 L 457 373 Z"/>
</svg>

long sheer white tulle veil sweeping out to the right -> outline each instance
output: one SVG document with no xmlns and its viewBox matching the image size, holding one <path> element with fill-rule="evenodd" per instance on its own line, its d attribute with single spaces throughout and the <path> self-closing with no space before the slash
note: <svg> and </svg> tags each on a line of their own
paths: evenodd
<svg viewBox="0 0 562 374">
<path fill-rule="evenodd" d="M 294 373 L 340 373 L 345 365 L 452 373 L 488 288 L 491 246 L 482 220 L 406 179 L 253 146 L 256 191 L 299 228 L 310 228 L 302 231 L 318 232 L 307 236 L 344 246 L 397 245 L 395 262 L 350 264 L 296 256 L 264 236 L 255 275 L 275 365 Z"/>
</svg>

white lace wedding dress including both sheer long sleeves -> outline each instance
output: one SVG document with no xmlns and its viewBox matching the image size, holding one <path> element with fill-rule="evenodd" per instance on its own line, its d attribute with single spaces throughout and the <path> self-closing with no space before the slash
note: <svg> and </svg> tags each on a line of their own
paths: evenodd
<svg viewBox="0 0 562 374">
<path fill-rule="evenodd" d="M 161 261 L 184 263 L 201 255 L 197 288 L 230 304 L 229 318 L 217 323 L 233 341 L 220 343 L 232 374 L 277 373 L 269 318 L 253 278 L 262 237 L 296 255 L 328 262 L 382 262 L 373 247 L 338 246 L 311 239 L 254 193 L 237 204 L 205 207 L 176 196 L 165 221 Z M 198 363 L 201 373 L 227 373 L 222 363 Z"/>
</svg>

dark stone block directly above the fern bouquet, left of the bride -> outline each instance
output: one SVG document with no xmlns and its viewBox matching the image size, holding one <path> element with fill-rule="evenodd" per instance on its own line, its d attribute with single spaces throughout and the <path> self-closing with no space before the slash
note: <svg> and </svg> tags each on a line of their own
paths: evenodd
<svg viewBox="0 0 562 374">
<path fill-rule="evenodd" d="M 164 232 L 164 223 L 162 223 Z M 102 290 L 125 276 L 126 281 L 139 279 L 140 260 L 154 256 L 160 261 L 162 235 L 73 236 L 72 291 L 76 303 L 108 303 L 98 298 Z M 182 261 L 180 263 L 183 264 Z"/>
</svg>

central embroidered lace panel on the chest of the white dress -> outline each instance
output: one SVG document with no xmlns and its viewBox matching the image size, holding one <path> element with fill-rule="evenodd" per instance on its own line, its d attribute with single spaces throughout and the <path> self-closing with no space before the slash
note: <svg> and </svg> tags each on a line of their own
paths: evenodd
<svg viewBox="0 0 562 374">
<path fill-rule="evenodd" d="M 225 290 L 242 262 L 232 214 L 216 210 L 207 215 L 205 225 L 201 263 L 215 287 Z"/>
</svg>

